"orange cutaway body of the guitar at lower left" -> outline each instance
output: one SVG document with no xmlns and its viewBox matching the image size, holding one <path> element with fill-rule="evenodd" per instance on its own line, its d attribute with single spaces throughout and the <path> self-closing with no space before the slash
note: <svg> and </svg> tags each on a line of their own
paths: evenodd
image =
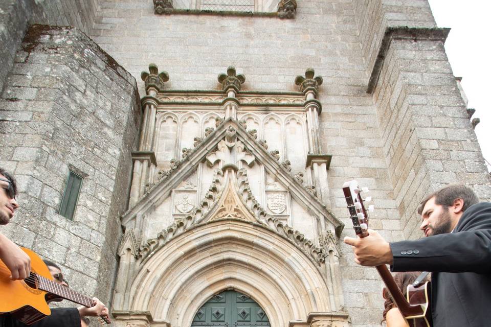
<svg viewBox="0 0 491 327">
<path fill-rule="evenodd" d="M 53 279 L 44 262 L 33 251 L 22 248 L 31 258 L 32 272 Z M 12 281 L 10 270 L 0 260 L 0 314 L 11 313 L 18 320 L 31 324 L 51 314 L 46 302 L 48 292 L 36 289 L 35 284 L 25 281 Z M 31 283 L 29 283 L 31 284 Z"/>
</svg>

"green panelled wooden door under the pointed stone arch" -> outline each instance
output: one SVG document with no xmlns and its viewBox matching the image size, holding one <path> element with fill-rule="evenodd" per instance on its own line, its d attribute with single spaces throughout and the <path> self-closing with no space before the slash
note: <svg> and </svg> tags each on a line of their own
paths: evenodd
<svg viewBox="0 0 491 327">
<path fill-rule="evenodd" d="M 264 310 L 249 296 L 225 291 L 199 308 L 191 324 L 191 327 L 194 326 L 269 327 L 270 321 Z"/>
</svg>

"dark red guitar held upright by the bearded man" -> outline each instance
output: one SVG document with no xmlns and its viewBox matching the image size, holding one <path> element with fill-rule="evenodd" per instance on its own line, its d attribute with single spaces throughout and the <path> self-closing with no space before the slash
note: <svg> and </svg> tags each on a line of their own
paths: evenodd
<svg viewBox="0 0 491 327">
<path fill-rule="evenodd" d="M 368 236 L 368 213 L 365 208 L 362 192 L 367 189 L 360 189 L 358 182 L 351 180 L 343 184 L 343 193 L 348 204 L 348 211 L 353 222 L 356 235 L 360 238 Z M 366 201 L 369 199 L 367 198 Z M 418 278 L 415 283 L 408 286 L 407 298 L 400 292 L 394 282 L 394 278 L 387 269 L 386 265 L 375 267 L 382 277 L 392 300 L 404 316 L 410 327 L 431 327 L 432 318 L 430 311 L 430 282 L 421 282 Z"/>
</svg>

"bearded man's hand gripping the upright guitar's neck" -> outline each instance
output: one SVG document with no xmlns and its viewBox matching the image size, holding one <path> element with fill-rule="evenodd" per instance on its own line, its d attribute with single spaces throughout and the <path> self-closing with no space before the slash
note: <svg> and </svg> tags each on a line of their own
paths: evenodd
<svg viewBox="0 0 491 327">
<path fill-rule="evenodd" d="M 354 261 L 368 267 L 392 265 L 393 257 L 389 242 L 372 229 L 368 229 L 368 233 L 369 235 L 364 238 L 344 238 L 344 243 L 353 248 Z"/>
</svg>

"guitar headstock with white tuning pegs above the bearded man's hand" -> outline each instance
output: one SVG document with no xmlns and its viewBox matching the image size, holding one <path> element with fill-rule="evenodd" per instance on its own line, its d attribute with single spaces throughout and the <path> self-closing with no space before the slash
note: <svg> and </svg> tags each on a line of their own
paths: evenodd
<svg viewBox="0 0 491 327">
<path fill-rule="evenodd" d="M 359 237 L 368 236 L 368 213 L 365 202 L 371 197 L 362 198 L 362 193 L 367 193 L 368 188 L 360 188 L 356 180 L 350 180 L 343 184 L 343 193 L 348 204 L 349 218 L 353 222 L 353 228 Z M 368 211 L 373 211 L 373 205 L 368 206 Z"/>
</svg>

